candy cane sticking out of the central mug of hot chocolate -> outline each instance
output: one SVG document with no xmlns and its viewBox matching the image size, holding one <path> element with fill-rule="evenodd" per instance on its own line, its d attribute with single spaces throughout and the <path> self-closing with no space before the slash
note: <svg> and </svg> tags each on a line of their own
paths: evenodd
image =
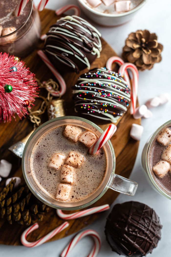
<svg viewBox="0 0 171 257">
<path fill-rule="evenodd" d="M 88 152 L 90 154 L 95 154 L 98 150 L 113 136 L 117 127 L 114 124 L 110 124 L 108 128 L 102 133 L 102 135 L 94 142 L 94 144 L 90 147 Z"/>
</svg>

